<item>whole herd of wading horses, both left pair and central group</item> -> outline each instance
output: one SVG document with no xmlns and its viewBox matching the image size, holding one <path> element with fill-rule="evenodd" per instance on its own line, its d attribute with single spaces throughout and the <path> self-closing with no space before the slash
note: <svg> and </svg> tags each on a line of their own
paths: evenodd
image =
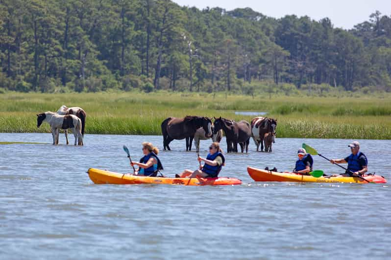
<svg viewBox="0 0 391 260">
<path fill-rule="evenodd" d="M 83 145 L 86 112 L 79 107 L 67 108 L 61 106 L 57 112 L 47 111 L 37 114 L 37 127 L 47 122 L 51 128 L 53 145 L 58 145 L 59 131 L 65 130 L 65 138 L 68 142 L 68 129 L 74 135 L 74 145 Z M 236 122 L 231 119 L 211 118 L 204 116 L 185 116 L 183 118 L 169 117 L 162 124 L 163 150 L 171 150 L 172 140 L 186 139 L 186 151 L 192 150 L 192 143 L 199 151 L 199 141 L 212 138 L 213 142 L 220 142 L 224 132 L 227 142 L 227 152 L 238 152 L 238 144 L 241 152 L 248 152 L 250 137 L 257 146 L 257 152 L 261 145 L 261 152 L 271 152 L 274 143 L 277 120 L 268 117 L 255 117 L 248 123 L 245 120 Z"/>
</svg>

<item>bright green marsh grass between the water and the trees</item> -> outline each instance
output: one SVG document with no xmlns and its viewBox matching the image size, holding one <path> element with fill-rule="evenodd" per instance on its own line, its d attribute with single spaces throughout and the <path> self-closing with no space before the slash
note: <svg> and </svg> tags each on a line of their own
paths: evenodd
<svg viewBox="0 0 391 260">
<path fill-rule="evenodd" d="M 0 132 L 49 132 L 37 129 L 37 113 L 61 105 L 87 112 L 86 133 L 161 134 L 169 117 L 204 115 L 234 120 L 252 116 L 235 111 L 266 111 L 277 118 L 277 137 L 391 139 L 391 96 L 290 97 L 226 95 L 225 93 L 15 93 L 0 94 Z"/>
</svg>

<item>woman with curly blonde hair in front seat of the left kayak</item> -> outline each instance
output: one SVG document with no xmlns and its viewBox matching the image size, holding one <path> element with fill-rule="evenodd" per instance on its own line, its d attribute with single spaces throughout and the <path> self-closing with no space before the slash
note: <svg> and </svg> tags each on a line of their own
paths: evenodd
<svg viewBox="0 0 391 260">
<path fill-rule="evenodd" d="M 159 149 L 153 147 L 151 143 L 143 143 L 144 157 L 140 159 L 140 162 L 132 162 L 131 166 L 139 166 L 139 170 L 136 174 L 155 177 L 159 170 L 163 170 L 162 163 L 160 162 L 157 154 Z"/>
</svg>

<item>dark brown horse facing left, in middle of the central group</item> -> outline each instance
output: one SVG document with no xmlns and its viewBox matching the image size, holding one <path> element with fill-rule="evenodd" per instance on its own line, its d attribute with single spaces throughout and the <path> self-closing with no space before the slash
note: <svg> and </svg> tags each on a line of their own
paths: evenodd
<svg viewBox="0 0 391 260">
<path fill-rule="evenodd" d="M 242 152 L 244 149 L 248 152 L 248 144 L 251 137 L 251 126 L 245 121 L 235 122 L 225 118 L 215 118 L 215 130 L 223 130 L 227 141 L 227 152 L 238 152 L 238 143 L 240 144 Z"/>
</svg>

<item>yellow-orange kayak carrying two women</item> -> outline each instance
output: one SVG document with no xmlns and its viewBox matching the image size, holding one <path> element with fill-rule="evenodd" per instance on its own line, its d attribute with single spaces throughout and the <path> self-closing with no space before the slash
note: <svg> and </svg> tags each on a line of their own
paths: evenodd
<svg viewBox="0 0 391 260">
<path fill-rule="evenodd" d="M 95 184 L 171 184 L 171 185 L 237 185 L 242 184 L 240 179 L 229 177 L 218 178 L 170 178 L 148 177 L 131 175 L 128 173 L 115 173 L 105 170 L 90 168 L 88 175 Z"/>
</svg>

